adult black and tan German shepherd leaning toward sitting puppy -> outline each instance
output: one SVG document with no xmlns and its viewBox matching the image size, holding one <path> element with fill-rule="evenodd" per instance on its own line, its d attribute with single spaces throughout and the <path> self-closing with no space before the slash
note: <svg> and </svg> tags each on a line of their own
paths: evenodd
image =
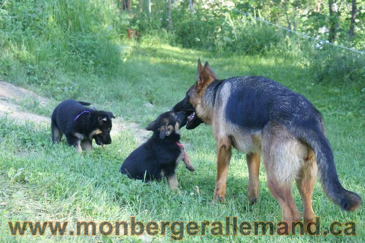
<svg viewBox="0 0 365 243">
<path fill-rule="evenodd" d="M 340 183 L 321 114 L 310 101 L 264 77 L 218 80 L 209 64 L 198 61 L 197 81 L 171 111 L 188 113 L 186 129 L 211 124 L 217 140 L 214 199 L 225 201 L 232 146 L 246 153 L 248 198 L 258 196 L 262 153 L 268 187 L 279 202 L 283 221 L 300 221 L 292 197 L 295 179 L 303 201 L 304 222 L 314 220 L 311 197 L 319 169 L 322 188 L 343 210 L 361 205 L 358 194 Z"/>
</svg>

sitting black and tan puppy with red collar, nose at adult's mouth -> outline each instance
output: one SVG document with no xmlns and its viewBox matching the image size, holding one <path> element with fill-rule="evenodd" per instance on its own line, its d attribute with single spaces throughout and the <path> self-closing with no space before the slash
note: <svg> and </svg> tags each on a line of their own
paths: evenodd
<svg viewBox="0 0 365 243">
<path fill-rule="evenodd" d="M 195 170 L 179 142 L 180 128 L 185 126 L 186 120 L 185 112 L 162 113 L 146 128 L 153 131 L 152 137 L 127 157 L 120 172 L 146 182 L 165 177 L 169 187 L 178 190 L 175 169 L 179 162 L 183 160 L 188 170 Z"/>
</svg>

